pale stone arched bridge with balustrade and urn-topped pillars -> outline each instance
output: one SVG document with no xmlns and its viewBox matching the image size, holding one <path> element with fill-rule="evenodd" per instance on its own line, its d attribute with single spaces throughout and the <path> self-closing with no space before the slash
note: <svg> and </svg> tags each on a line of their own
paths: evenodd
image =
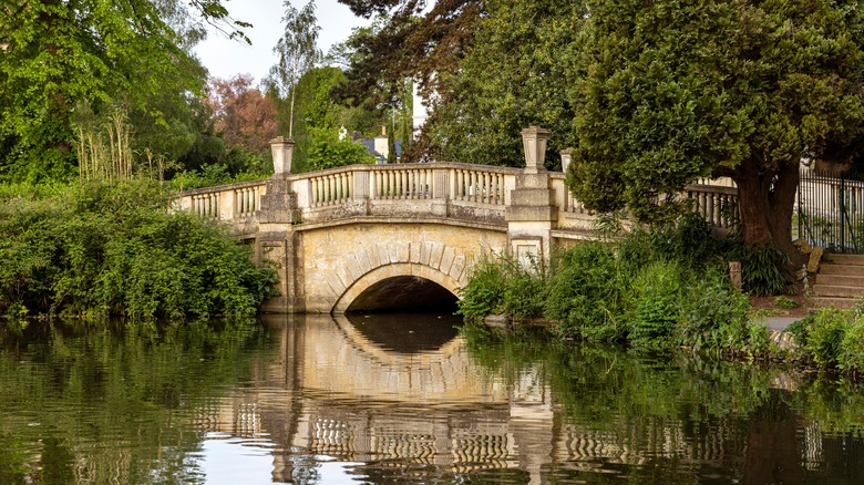
<svg viewBox="0 0 864 485">
<path fill-rule="evenodd" d="M 342 313 L 451 305 L 484 252 L 548 265 L 551 255 L 595 239 L 594 216 L 544 168 L 547 133 L 523 131 L 526 166 L 459 163 L 353 165 L 290 174 L 292 143 L 274 141 L 267 180 L 184 193 L 182 209 L 230 225 L 256 260 L 279 272 L 270 312 Z M 564 166 L 569 152 L 562 153 Z M 714 225 L 734 189 L 689 186 Z"/>
</svg>

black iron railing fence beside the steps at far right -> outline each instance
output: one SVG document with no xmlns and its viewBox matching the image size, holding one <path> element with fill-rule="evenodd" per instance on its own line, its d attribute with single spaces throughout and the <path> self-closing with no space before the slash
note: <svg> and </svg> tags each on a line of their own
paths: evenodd
<svg viewBox="0 0 864 485">
<path fill-rule="evenodd" d="M 864 174 L 802 168 L 798 234 L 831 252 L 864 252 Z"/>
</svg>

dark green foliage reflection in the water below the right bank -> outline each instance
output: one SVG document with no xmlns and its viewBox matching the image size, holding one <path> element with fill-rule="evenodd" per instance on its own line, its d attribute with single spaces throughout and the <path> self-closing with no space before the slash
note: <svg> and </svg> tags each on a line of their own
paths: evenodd
<svg viewBox="0 0 864 485">
<path fill-rule="evenodd" d="M 661 474 L 648 483 L 724 473 L 755 484 L 864 473 L 860 386 L 779 365 L 560 345 L 526 334 L 497 338 L 475 327 L 463 336 L 488 374 L 517 376 L 539 368 L 548 376 L 560 410 L 559 436 L 569 435 L 557 438 L 568 450 L 548 465 L 551 474 L 594 464 L 641 481 L 673 467 L 678 479 L 659 479 Z M 815 437 L 813 429 L 836 433 Z M 837 442 L 847 445 L 840 450 Z M 825 447 L 840 453 L 821 453 Z"/>
</svg>

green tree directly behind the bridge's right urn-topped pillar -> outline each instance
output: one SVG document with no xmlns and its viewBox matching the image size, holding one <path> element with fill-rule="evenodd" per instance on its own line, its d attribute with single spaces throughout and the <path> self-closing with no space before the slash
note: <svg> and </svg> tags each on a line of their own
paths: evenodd
<svg viewBox="0 0 864 485">
<path fill-rule="evenodd" d="M 524 165 L 520 131 L 549 128 L 547 163 L 576 146 L 566 55 L 585 18 L 580 1 L 490 0 L 456 72 L 441 75 L 450 97 L 429 121 L 438 157 Z"/>
</svg>

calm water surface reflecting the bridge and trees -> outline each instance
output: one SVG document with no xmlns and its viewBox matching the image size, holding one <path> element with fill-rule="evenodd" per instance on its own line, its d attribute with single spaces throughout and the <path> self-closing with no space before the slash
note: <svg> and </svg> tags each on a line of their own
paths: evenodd
<svg viewBox="0 0 864 485">
<path fill-rule="evenodd" d="M 448 316 L 0 324 L 0 484 L 864 483 L 864 392 Z"/>
</svg>

